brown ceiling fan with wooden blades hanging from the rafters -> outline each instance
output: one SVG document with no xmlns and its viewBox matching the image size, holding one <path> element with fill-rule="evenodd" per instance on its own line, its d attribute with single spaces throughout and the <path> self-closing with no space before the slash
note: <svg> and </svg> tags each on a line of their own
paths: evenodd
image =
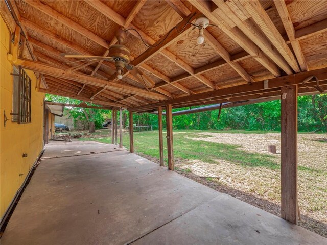
<svg viewBox="0 0 327 245">
<path fill-rule="evenodd" d="M 98 61 L 98 60 L 106 60 L 110 62 L 114 62 L 116 67 L 116 78 L 122 79 L 124 68 L 126 68 L 133 77 L 141 84 L 143 84 L 146 88 L 153 88 L 154 81 L 145 75 L 141 70 L 137 69 L 134 65 L 130 65 L 130 51 L 124 45 L 124 41 L 126 38 L 126 32 L 120 28 L 116 31 L 116 38 L 118 40 L 118 44 L 112 45 L 109 47 L 108 56 L 91 56 L 91 55 L 68 55 L 65 54 L 65 58 L 76 58 L 81 59 L 80 61 Z"/>
</svg>

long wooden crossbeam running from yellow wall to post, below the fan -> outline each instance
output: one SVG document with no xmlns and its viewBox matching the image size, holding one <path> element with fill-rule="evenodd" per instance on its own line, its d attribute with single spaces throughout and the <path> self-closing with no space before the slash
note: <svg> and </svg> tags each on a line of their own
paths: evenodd
<svg viewBox="0 0 327 245">
<path fill-rule="evenodd" d="M 18 59 L 15 65 L 21 65 L 23 68 L 30 69 L 33 71 L 38 71 L 43 74 L 48 74 L 54 77 L 66 78 L 69 80 L 82 82 L 90 85 L 106 87 L 117 91 L 128 92 L 132 94 L 145 95 L 153 99 L 165 100 L 167 96 L 161 95 L 159 93 L 150 92 L 144 89 L 140 89 L 131 85 L 120 84 L 113 81 L 107 81 L 100 78 L 91 77 L 84 74 L 79 74 L 77 72 L 66 72 L 63 69 L 55 68 L 49 65 L 45 65 L 40 62 Z"/>
</svg>

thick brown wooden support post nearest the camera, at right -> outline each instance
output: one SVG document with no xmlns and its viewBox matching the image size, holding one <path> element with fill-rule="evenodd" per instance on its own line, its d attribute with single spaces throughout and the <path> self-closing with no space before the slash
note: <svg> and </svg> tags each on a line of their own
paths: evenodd
<svg viewBox="0 0 327 245">
<path fill-rule="evenodd" d="M 281 93 L 282 218 L 297 224 L 297 85 Z"/>
</svg>

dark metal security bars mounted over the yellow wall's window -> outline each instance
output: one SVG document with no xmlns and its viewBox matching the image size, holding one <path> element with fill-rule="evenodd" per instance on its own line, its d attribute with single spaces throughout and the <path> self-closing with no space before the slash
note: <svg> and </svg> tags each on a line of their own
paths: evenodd
<svg viewBox="0 0 327 245">
<path fill-rule="evenodd" d="M 19 67 L 18 124 L 31 122 L 31 78 Z"/>
</svg>

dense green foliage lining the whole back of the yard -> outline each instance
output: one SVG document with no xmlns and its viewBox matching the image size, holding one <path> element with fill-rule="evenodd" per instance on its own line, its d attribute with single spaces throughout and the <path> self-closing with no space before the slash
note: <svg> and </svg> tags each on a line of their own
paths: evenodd
<svg viewBox="0 0 327 245">
<path fill-rule="evenodd" d="M 47 100 L 51 101 L 74 104 L 81 102 L 56 95 L 47 94 L 46 96 Z M 178 108 L 173 111 L 185 109 L 189 108 Z M 89 112 L 92 109 L 86 110 Z M 108 117 L 108 111 L 94 111 L 93 120 L 97 127 L 101 127 L 104 118 Z M 280 100 L 222 109 L 219 121 L 217 121 L 218 111 L 174 116 L 173 127 L 181 130 L 281 130 Z M 72 109 L 71 113 L 74 118 L 80 116 L 86 119 L 83 111 L 79 108 Z M 162 119 L 165 128 L 166 117 L 164 116 Z M 155 114 L 134 113 L 133 122 L 136 125 L 152 125 L 154 130 L 158 129 L 158 116 Z M 126 124 L 128 125 L 128 119 Z M 327 132 L 327 94 L 298 97 L 298 130 L 301 132 Z"/>
</svg>

